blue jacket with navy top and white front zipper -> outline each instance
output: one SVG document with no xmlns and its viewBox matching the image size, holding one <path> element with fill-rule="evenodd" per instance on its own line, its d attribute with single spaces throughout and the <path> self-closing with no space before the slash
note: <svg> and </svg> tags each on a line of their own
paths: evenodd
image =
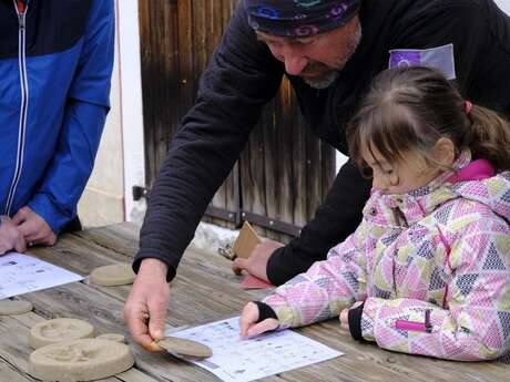
<svg viewBox="0 0 510 382">
<path fill-rule="evenodd" d="M 76 216 L 109 111 L 112 0 L 0 0 L 0 215 Z"/>
</svg>

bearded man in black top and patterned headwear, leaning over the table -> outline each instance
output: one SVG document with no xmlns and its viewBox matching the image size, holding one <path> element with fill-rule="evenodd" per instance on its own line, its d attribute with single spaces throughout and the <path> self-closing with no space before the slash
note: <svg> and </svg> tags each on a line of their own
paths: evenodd
<svg viewBox="0 0 510 382">
<path fill-rule="evenodd" d="M 491 0 L 245 0 L 151 195 L 124 308 L 135 341 L 151 349 L 163 335 L 166 280 L 284 74 L 310 127 L 347 153 L 345 127 L 373 78 L 388 66 L 440 69 L 472 102 L 510 115 L 509 39 L 510 20 Z M 348 162 L 298 238 L 287 246 L 265 241 L 234 269 L 275 285 L 306 270 L 356 228 L 369 186 Z"/>
</svg>

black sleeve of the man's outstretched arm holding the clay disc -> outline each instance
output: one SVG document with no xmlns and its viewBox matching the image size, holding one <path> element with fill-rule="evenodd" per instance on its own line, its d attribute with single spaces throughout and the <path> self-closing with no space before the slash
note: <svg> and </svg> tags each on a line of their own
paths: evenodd
<svg viewBox="0 0 510 382">
<path fill-rule="evenodd" d="M 153 186 L 133 269 L 144 258 L 169 265 L 169 280 L 214 193 L 228 175 L 283 66 L 256 41 L 241 6 L 203 73 L 195 105 L 183 118 Z"/>
</svg>

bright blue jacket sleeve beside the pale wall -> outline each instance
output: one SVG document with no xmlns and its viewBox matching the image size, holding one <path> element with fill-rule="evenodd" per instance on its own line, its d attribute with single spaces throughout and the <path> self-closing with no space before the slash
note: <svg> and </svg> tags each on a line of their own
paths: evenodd
<svg viewBox="0 0 510 382">
<path fill-rule="evenodd" d="M 57 151 L 28 204 L 55 234 L 75 217 L 78 200 L 94 165 L 110 107 L 113 51 L 113 1 L 94 1 L 69 89 Z"/>
</svg>

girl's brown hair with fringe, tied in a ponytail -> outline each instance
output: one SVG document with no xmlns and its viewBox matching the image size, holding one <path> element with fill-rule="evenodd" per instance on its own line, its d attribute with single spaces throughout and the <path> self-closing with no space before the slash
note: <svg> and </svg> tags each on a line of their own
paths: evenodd
<svg viewBox="0 0 510 382">
<path fill-rule="evenodd" d="M 498 172 L 510 169 L 510 124 L 482 106 L 466 101 L 441 72 L 411 66 L 387 70 L 374 81 L 347 130 L 350 156 L 364 166 L 361 149 L 377 149 L 389 163 L 405 161 L 418 149 L 435 164 L 431 149 L 450 138 L 457 154 L 469 147 Z"/>
</svg>

